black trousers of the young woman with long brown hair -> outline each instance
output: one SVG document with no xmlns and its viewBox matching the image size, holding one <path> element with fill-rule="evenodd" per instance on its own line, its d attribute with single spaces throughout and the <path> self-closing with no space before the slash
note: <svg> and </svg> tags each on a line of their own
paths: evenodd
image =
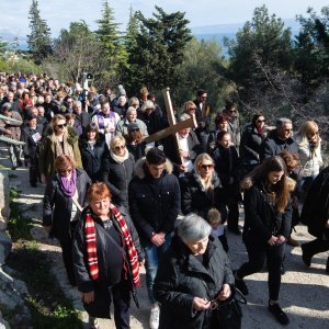
<svg viewBox="0 0 329 329">
<path fill-rule="evenodd" d="M 285 243 L 279 246 L 246 245 L 249 261 L 241 265 L 237 276 L 243 279 L 247 275 L 260 272 L 266 260 L 269 269 L 269 295 L 270 299 L 277 300 L 281 285 L 281 264 L 284 256 Z"/>
</svg>

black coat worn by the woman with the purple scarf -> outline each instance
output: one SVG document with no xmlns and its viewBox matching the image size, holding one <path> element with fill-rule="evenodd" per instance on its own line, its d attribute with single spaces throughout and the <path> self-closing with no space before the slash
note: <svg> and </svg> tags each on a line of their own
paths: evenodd
<svg viewBox="0 0 329 329">
<path fill-rule="evenodd" d="M 83 169 L 77 168 L 77 191 L 78 202 L 83 207 L 87 205 L 87 191 L 91 180 Z M 50 236 L 61 241 L 70 240 L 70 218 L 72 209 L 72 198 L 64 195 L 59 175 L 54 174 L 47 182 L 44 209 L 43 226 L 52 226 Z"/>
</svg>

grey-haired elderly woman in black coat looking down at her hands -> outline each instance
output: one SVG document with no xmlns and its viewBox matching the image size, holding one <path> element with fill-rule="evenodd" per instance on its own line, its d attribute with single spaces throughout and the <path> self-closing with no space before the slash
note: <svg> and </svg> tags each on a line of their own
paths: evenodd
<svg viewBox="0 0 329 329">
<path fill-rule="evenodd" d="M 220 328 L 213 318 L 211 299 L 227 299 L 234 284 L 227 254 L 211 226 L 188 215 L 160 261 L 154 293 L 161 304 L 159 329 Z"/>
</svg>

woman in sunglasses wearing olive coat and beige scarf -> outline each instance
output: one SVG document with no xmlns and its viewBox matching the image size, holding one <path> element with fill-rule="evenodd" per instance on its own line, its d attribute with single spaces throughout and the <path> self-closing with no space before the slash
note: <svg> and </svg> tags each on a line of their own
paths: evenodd
<svg viewBox="0 0 329 329">
<path fill-rule="evenodd" d="M 55 160 L 59 156 L 72 158 L 78 167 L 82 167 L 81 155 L 78 145 L 78 135 L 72 128 L 67 128 L 66 118 L 56 114 L 52 118 L 52 129 L 44 137 L 39 151 L 39 172 L 42 182 L 55 173 Z"/>
</svg>

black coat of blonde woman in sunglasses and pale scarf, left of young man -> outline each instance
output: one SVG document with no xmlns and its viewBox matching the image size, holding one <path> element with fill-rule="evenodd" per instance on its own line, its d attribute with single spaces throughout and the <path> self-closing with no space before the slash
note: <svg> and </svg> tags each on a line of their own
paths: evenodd
<svg viewBox="0 0 329 329">
<path fill-rule="evenodd" d="M 104 159 L 103 181 L 109 185 L 115 205 L 128 205 L 128 185 L 134 174 L 134 166 L 135 160 L 131 154 L 122 163 L 116 162 L 111 155 Z"/>
</svg>

